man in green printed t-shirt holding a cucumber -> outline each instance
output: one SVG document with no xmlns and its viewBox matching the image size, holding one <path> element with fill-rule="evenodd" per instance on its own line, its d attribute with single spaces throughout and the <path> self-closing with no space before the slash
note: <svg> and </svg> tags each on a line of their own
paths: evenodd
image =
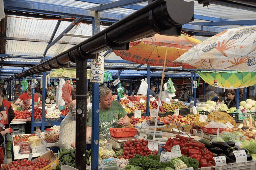
<svg viewBox="0 0 256 170">
<path fill-rule="evenodd" d="M 118 125 L 129 125 L 130 118 L 126 115 L 126 111 L 119 102 L 112 101 L 112 91 L 106 87 L 100 87 L 100 103 L 99 103 L 99 134 L 105 138 L 110 135 L 109 128 L 117 128 Z M 119 112 L 122 113 L 122 118 L 117 120 Z M 86 139 L 92 133 L 92 110 L 88 112 Z M 75 147 L 75 142 L 72 143 Z"/>
</svg>

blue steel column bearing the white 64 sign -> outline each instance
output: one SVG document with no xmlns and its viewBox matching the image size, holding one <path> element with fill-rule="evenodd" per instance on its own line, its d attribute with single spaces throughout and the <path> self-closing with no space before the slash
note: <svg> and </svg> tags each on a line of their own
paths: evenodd
<svg viewBox="0 0 256 170">
<path fill-rule="evenodd" d="M 95 16 L 98 12 L 95 12 Z M 100 31 L 100 18 L 92 20 L 92 34 Z M 99 89 L 100 83 L 92 83 L 92 170 L 99 169 Z"/>
</svg>

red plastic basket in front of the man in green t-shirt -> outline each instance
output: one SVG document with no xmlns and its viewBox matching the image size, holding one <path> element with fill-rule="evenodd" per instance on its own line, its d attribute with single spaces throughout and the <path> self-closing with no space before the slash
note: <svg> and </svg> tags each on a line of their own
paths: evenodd
<svg viewBox="0 0 256 170">
<path fill-rule="evenodd" d="M 110 134 L 113 137 L 133 137 L 136 135 L 135 128 L 109 128 Z"/>
</svg>

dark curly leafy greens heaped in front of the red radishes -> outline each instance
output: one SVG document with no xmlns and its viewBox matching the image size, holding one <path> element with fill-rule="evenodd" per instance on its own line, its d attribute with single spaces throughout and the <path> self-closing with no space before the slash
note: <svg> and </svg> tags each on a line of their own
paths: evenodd
<svg viewBox="0 0 256 170">
<path fill-rule="evenodd" d="M 160 155 L 142 156 L 140 154 L 136 154 L 134 156 L 134 159 L 130 159 L 128 165 L 139 166 L 145 170 L 149 168 L 160 169 L 160 168 L 167 168 L 167 167 L 171 167 L 172 169 L 175 169 L 174 164 L 172 162 L 160 162 Z"/>
</svg>

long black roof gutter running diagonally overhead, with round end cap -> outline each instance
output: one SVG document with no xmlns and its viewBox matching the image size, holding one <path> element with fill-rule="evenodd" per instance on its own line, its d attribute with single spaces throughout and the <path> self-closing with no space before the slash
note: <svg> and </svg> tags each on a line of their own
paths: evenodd
<svg viewBox="0 0 256 170">
<path fill-rule="evenodd" d="M 193 20 L 193 1 L 156 0 L 69 50 L 28 69 L 30 71 L 16 74 L 15 77 L 21 78 L 51 69 L 67 68 L 70 62 L 75 63 L 75 56 L 95 59 L 95 54 L 108 49 L 128 50 L 129 42 L 155 33 L 178 36 L 182 25 Z"/>
</svg>

